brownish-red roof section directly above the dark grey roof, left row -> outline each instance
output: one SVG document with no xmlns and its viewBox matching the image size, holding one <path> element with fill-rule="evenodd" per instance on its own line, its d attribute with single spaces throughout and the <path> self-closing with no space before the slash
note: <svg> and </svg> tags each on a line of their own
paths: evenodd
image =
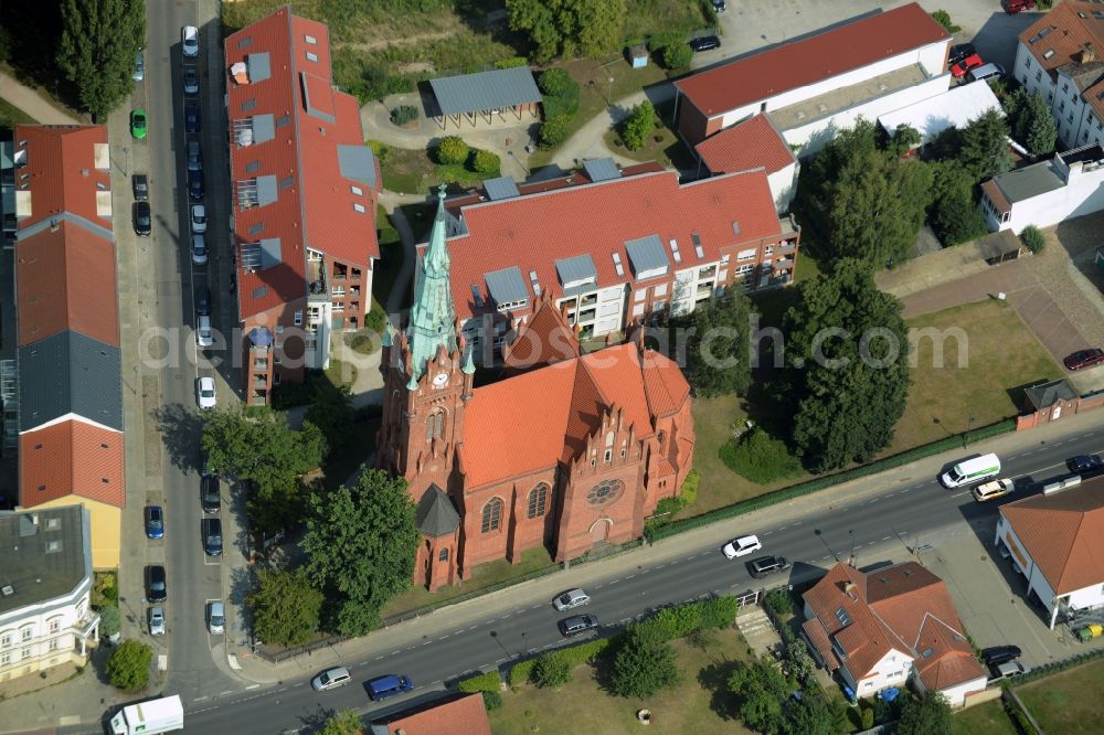
<svg viewBox="0 0 1104 735">
<path fill-rule="evenodd" d="M 20 347 L 67 329 L 119 345 L 115 246 L 66 221 L 15 243 Z"/>
</svg>

